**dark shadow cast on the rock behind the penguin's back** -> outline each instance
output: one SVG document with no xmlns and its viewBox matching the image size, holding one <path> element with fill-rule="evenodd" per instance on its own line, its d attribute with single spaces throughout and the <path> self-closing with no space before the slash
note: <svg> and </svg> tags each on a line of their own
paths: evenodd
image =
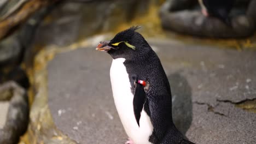
<svg viewBox="0 0 256 144">
<path fill-rule="evenodd" d="M 187 79 L 179 73 L 168 76 L 172 91 L 172 116 L 176 127 L 183 135 L 192 122 L 191 87 Z"/>
</svg>

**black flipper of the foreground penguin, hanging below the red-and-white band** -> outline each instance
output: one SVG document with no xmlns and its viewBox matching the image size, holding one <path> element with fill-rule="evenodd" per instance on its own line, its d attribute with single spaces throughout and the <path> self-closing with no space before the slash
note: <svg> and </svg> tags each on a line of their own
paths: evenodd
<svg viewBox="0 0 256 144">
<path fill-rule="evenodd" d="M 135 80 L 138 81 L 137 79 Z M 146 100 L 146 93 L 144 91 L 144 87 L 137 83 L 135 88 L 135 93 L 133 97 L 133 112 L 137 121 L 137 124 L 139 126 L 139 119 L 141 118 L 141 111 L 143 109 L 143 105 Z"/>
</svg>

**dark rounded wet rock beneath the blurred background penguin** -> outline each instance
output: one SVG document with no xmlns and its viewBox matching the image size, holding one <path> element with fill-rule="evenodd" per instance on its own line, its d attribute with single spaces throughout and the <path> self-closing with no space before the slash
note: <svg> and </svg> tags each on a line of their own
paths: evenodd
<svg viewBox="0 0 256 144">
<path fill-rule="evenodd" d="M 250 3 L 247 1 L 247 3 L 249 3 L 248 9 L 247 7 L 243 8 L 239 5 L 240 7 L 232 10 L 232 27 L 229 27 L 215 17 L 203 16 L 199 10 L 199 6 L 196 6 L 195 1 L 193 3 L 188 1 L 170 0 L 163 4 L 160 10 L 162 27 L 171 31 L 196 35 L 199 37 L 248 37 L 254 33 L 256 28 L 256 19 L 253 9 L 255 8 L 256 3 L 253 1 Z M 184 3 L 186 4 L 181 6 Z"/>
</svg>

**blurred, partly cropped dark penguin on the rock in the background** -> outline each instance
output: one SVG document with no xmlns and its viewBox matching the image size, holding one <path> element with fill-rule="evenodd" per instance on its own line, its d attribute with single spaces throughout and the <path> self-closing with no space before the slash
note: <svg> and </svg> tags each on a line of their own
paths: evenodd
<svg viewBox="0 0 256 144">
<path fill-rule="evenodd" d="M 202 8 L 202 14 L 205 16 L 217 17 L 226 25 L 231 26 L 229 13 L 235 0 L 198 0 Z"/>
</svg>

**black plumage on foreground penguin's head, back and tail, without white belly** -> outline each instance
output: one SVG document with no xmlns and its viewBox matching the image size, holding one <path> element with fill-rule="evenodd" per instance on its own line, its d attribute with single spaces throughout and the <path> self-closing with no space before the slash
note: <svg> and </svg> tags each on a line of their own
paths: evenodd
<svg viewBox="0 0 256 144">
<path fill-rule="evenodd" d="M 184 139 L 172 121 L 172 98 L 167 76 L 159 57 L 142 35 L 135 31 L 138 28 L 131 27 L 118 33 L 108 44 L 102 43 L 97 49 L 107 51 L 113 59 L 125 58 L 124 65 L 129 74 L 131 91 L 135 94 L 134 99 L 140 97 L 135 100 L 138 102 L 135 104 L 138 108 L 137 113 L 139 111 L 140 116 L 140 109 L 144 106 L 144 111 L 153 124 L 153 133 L 149 137 L 150 142 L 154 144 L 193 143 Z M 150 87 L 146 93 L 142 92 L 142 87 L 139 84 L 136 87 L 135 75 L 137 79 L 149 83 Z M 146 98 L 144 98 L 144 94 L 146 94 Z M 141 101 L 143 99 L 144 101 Z"/>
</svg>

